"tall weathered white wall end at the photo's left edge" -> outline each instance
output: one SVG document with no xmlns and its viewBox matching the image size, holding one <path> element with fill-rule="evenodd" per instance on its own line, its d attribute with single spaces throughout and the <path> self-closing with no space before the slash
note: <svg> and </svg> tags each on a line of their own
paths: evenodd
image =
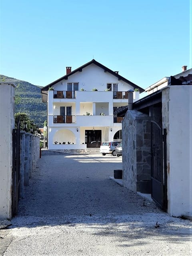
<svg viewBox="0 0 192 256">
<path fill-rule="evenodd" d="M 0 83 L 0 220 L 11 218 L 14 84 Z"/>
</svg>

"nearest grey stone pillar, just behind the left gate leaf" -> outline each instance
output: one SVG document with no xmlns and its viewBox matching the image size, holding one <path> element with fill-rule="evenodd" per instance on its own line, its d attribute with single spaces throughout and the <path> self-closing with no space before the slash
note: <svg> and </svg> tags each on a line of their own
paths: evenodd
<svg viewBox="0 0 192 256">
<path fill-rule="evenodd" d="M 20 131 L 20 198 L 24 198 L 25 132 Z"/>
</svg>

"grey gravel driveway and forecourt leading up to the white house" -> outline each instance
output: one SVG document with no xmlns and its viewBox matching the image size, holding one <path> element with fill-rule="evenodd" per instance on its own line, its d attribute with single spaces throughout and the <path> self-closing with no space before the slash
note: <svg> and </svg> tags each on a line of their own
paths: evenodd
<svg viewBox="0 0 192 256">
<path fill-rule="evenodd" d="M 0 230 L 0 255 L 191 255 L 192 222 L 109 179 L 121 160 L 42 156 L 18 216 Z"/>
</svg>

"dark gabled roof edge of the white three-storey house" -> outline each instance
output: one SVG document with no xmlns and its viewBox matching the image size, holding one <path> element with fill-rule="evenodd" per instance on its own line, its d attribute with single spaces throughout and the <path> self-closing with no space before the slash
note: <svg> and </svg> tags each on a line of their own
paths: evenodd
<svg viewBox="0 0 192 256">
<path fill-rule="evenodd" d="M 54 84 L 56 84 L 56 83 L 58 83 L 58 82 L 60 82 L 60 81 L 62 81 L 62 80 L 64 80 L 64 79 L 67 80 L 69 76 L 75 74 L 76 72 L 81 72 L 83 68 L 86 68 L 86 67 L 89 66 L 90 64 L 95 64 L 95 65 L 99 66 L 100 68 L 102 68 L 102 69 L 104 70 L 104 72 L 108 72 L 108 73 L 110 73 L 110 74 L 116 76 L 116 77 L 118 78 L 118 80 L 122 80 L 122 81 L 124 81 L 124 82 L 130 84 L 131 86 L 134 87 L 134 89 L 136 89 L 136 88 L 139 89 L 140 93 L 141 93 L 141 92 L 144 92 L 144 89 L 141 88 L 140 86 L 138 86 L 138 85 L 132 83 L 131 81 L 129 81 L 129 80 L 127 80 L 126 78 L 124 78 L 123 76 L 120 76 L 120 75 L 117 74 L 116 72 L 114 72 L 114 71 L 112 71 L 111 69 L 107 68 L 106 66 L 100 64 L 99 62 L 97 62 L 97 61 L 94 60 L 94 59 L 91 60 L 90 62 L 84 64 L 83 66 L 80 66 L 80 67 L 77 68 L 76 70 L 70 72 L 70 74 L 67 74 L 67 75 L 65 75 L 65 76 L 62 76 L 62 77 L 59 78 L 58 80 L 56 80 L 56 81 L 54 81 L 54 82 L 48 84 L 47 86 L 44 86 L 44 87 L 41 89 L 41 92 L 42 92 L 42 91 L 47 91 L 47 90 L 49 89 L 49 87 L 53 86 Z M 42 93 L 43 93 L 43 92 L 42 92 Z"/>
</svg>

